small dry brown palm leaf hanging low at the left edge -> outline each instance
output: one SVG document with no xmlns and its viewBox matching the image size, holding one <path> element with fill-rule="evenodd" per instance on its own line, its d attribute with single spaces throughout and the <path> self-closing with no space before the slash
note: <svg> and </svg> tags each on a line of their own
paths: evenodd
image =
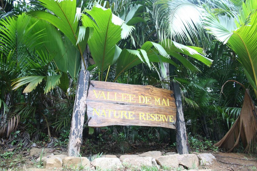
<svg viewBox="0 0 257 171">
<path fill-rule="evenodd" d="M 2 127 L 0 127 L 0 136 L 3 136 L 5 133 L 6 137 L 10 136 L 10 134 L 18 127 L 19 121 L 19 115 L 13 116 L 8 119 L 7 122 Z"/>
</svg>

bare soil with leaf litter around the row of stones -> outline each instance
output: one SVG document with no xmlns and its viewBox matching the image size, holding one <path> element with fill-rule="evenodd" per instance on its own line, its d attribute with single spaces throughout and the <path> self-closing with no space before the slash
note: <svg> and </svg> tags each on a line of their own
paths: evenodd
<svg viewBox="0 0 257 171">
<path fill-rule="evenodd" d="M 28 151 L 20 151 L 19 154 L 12 156 L 12 159 L 5 159 L 1 162 L 0 170 L 4 170 L 10 168 L 10 164 L 13 168 L 17 170 L 46 170 L 46 169 L 36 169 L 35 161 L 40 157 L 42 153 L 42 147 L 33 147 Z M 140 154 L 147 151 L 165 151 L 170 152 L 174 151 L 171 149 L 135 149 L 132 153 L 127 154 Z M 65 148 L 44 148 L 43 156 L 47 156 L 50 154 L 67 154 Z M 201 166 L 199 169 L 212 169 L 214 171 L 239 171 L 239 170 L 257 170 L 257 156 L 249 155 L 245 153 L 224 153 L 224 152 L 201 152 L 201 153 L 211 153 L 216 159 L 217 163 L 211 166 L 205 166 L 204 168 Z M 120 153 L 106 153 L 106 154 L 114 154 L 119 157 Z M 92 154 L 93 155 L 93 154 Z M 90 157 L 91 154 L 84 154 L 82 156 Z M 34 162 L 33 162 L 34 161 Z M 4 163 L 5 164 L 4 164 Z M 8 164 L 9 163 L 9 164 Z M 2 169 L 1 169 L 2 166 Z M 12 169 L 13 170 L 13 169 Z"/>
</svg>

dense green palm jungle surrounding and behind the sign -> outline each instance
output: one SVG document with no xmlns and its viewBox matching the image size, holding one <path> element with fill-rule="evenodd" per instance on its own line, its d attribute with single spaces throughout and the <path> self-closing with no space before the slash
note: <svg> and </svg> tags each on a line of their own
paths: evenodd
<svg viewBox="0 0 257 171">
<path fill-rule="evenodd" d="M 85 68 L 97 81 L 179 83 L 192 151 L 221 150 L 213 144 L 240 115 L 245 88 L 256 104 L 255 0 L 1 0 L 0 6 L 2 160 L 31 146 L 67 147 Z M 81 153 L 175 150 L 175 134 L 85 125 Z M 252 143 L 249 152 L 256 150 Z M 234 151 L 243 152 L 242 144 Z"/>
</svg>

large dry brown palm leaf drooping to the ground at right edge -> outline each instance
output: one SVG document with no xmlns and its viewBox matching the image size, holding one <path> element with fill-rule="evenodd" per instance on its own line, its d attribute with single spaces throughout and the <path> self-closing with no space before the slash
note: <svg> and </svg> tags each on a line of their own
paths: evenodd
<svg viewBox="0 0 257 171">
<path fill-rule="evenodd" d="M 249 90 L 245 89 L 245 99 L 242 110 L 234 125 L 226 135 L 214 146 L 227 149 L 231 152 L 239 145 L 239 140 L 243 143 L 245 152 L 250 152 L 251 147 L 256 146 L 257 140 L 257 110 L 249 95 Z"/>
</svg>

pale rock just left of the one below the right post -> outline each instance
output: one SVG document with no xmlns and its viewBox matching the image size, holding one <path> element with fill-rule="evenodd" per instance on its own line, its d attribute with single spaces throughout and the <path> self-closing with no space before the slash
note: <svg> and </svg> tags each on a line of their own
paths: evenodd
<svg viewBox="0 0 257 171">
<path fill-rule="evenodd" d="M 179 164 L 177 156 L 179 156 L 179 154 L 160 156 L 155 158 L 155 160 L 160 166 L 177 168 Z"/>
</svg>

